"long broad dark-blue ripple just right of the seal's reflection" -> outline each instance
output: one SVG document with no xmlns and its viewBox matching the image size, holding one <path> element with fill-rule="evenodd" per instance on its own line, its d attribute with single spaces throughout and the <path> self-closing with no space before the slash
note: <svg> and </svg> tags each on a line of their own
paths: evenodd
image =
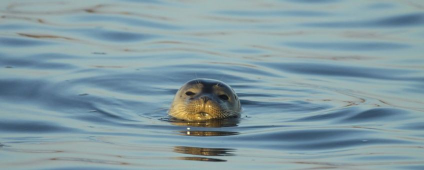
<svg viewBox="0 0 424 170">
<path fill-rule="evenodd" d="M 289 150 L 332 150 L 369 145 L 410 144 L 407 140 L 375 137 L 380 132 L 354 128 L 314 128 L 279 130 L 254 134 L 237 135 L 239 142 L 252 141 L 261 147 Z M 241 144 L 241 143 L 240 143 Z M 245 143 L 248 144 L 248 143 Z"/>
</svg>

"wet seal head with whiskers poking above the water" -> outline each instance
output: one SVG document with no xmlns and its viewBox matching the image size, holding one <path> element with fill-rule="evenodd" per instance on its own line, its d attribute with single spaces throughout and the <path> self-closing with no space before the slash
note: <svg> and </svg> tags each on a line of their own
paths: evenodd
<svg viewBox="0 0 424 170">
<path fill-rule="evenodd" d="M 176 119 L 201 121 L 239 117 L 240 100 L 226 83 L 206 78 L 192 79 L 179 88 L 168 114 Z"/>
</svg>

